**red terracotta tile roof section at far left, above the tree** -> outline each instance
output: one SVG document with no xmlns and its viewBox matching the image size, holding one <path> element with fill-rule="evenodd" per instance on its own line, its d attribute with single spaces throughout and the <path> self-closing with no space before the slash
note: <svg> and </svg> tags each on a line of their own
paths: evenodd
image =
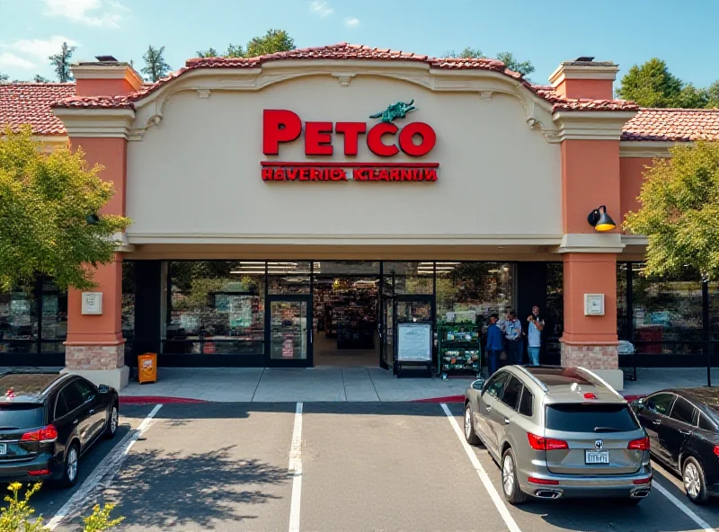
<svg viewBox="0 0 719 532">
<path fill-rule="evenodd" d="M 0 133 L 30 124 L 36 135 L 65 135 L 50 105 L 75 94 L 75 84 L 0 84 Z"/>
</svg>

